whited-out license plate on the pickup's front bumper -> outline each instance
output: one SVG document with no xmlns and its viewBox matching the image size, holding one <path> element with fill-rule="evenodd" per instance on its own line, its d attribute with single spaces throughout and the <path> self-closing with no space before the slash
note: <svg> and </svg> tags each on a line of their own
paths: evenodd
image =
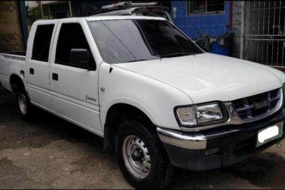
<svg viewBox="0 0 285 190">
<path fill-rule="evenodd" d="M 283 134 L 283 121 L 263 128 L 257 132 L 256 147 L 271 140 L 281 137 Z"/>
</svg>

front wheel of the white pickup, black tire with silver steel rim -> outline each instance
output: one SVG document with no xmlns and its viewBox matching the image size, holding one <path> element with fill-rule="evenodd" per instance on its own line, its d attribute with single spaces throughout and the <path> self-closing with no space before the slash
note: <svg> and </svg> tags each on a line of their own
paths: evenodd
<svg viewBox="0 0 285 190">
<path fill-rule="evenodd" d="M 173 165 L 156 131 L 147 128 L 147 124 L 135 120 L 120 124 L 115 136 L 118 165 L 133 187 L 163 188 L 172 178 Z M 137 169 L 137 163 L 141 168 Z"/>
</svg>

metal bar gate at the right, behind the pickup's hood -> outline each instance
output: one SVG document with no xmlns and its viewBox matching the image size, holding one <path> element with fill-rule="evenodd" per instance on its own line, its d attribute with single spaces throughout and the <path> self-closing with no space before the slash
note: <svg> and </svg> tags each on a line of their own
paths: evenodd
<svg viewBox="0 0 285 190">
<path fill-rule="evenodd" d="M 244 1 L 246 60 L 285 68 L 285 1 Z"/>
</svg>

